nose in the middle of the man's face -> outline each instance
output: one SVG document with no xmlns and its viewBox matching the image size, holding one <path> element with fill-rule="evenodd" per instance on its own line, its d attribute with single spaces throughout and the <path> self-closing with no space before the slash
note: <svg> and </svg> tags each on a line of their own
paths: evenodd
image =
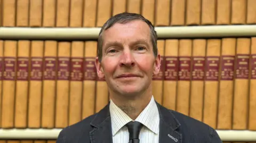
<svg viewBox="0 0 256 143">
<path fill-rule="evenodd" d="M 119 65 L 127 66 L 127 67 L 132 67 L 135 65 L 134 57 L 133 57 L 131 51 L 123 51 L 121 58 L 120 58 Z"/>
</svg>

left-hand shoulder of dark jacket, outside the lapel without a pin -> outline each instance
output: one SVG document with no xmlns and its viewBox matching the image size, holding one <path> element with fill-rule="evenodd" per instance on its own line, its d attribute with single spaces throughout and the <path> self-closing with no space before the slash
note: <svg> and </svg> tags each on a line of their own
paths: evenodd
<svg viewBox="0 0 256 143">
<path fill-rule="evenodd" d="M 91 126 L 91 121 L 95 118 L 97 114 L 86 117 L 85 119 L 69 125 L 63 128 L 58 136 L 56 143 L 77 143 L 77 142 L 90 142 L 90 131 L 93 130 Z"/>
</svg>

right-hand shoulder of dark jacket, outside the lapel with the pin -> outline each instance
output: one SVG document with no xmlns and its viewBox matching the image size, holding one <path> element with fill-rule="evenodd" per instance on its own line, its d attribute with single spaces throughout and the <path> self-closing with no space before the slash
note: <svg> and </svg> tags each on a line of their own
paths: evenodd
<svg viewBox="0 0 256 143">
<path fill-rule="evenodd" d="M 169 110 L 180 122 L 179 132 L 186 136 L 184 141 L 188 142 L 216 142 L 222 143 L 218 133 L 210 125 L 198 121 L 177 111 Z"/>
</svg>

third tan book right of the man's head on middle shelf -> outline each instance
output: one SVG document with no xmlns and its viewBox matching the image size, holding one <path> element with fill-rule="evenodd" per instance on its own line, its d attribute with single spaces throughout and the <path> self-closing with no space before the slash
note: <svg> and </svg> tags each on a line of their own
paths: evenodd
<svg viewBox="0 0 256 143">
<path fill-rule="evenodd" d="M 189 115 L 192 40 L 179 40 L 179 74 L 176 110 Z"/>
</svg>

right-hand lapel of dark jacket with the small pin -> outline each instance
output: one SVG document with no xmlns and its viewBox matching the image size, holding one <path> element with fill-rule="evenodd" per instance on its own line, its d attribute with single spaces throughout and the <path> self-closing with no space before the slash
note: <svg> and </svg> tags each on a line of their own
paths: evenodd
<svg viewBox="0 0 256 143">
<path fill-rule="evenodd" d="M 182 134 L 177 131 L 180 126 L 179 121 L 167 108 L 157 103 L 160 124 L 159 124 L 159 142 L 161 143 L 181 143 Z"/>
</svg>

